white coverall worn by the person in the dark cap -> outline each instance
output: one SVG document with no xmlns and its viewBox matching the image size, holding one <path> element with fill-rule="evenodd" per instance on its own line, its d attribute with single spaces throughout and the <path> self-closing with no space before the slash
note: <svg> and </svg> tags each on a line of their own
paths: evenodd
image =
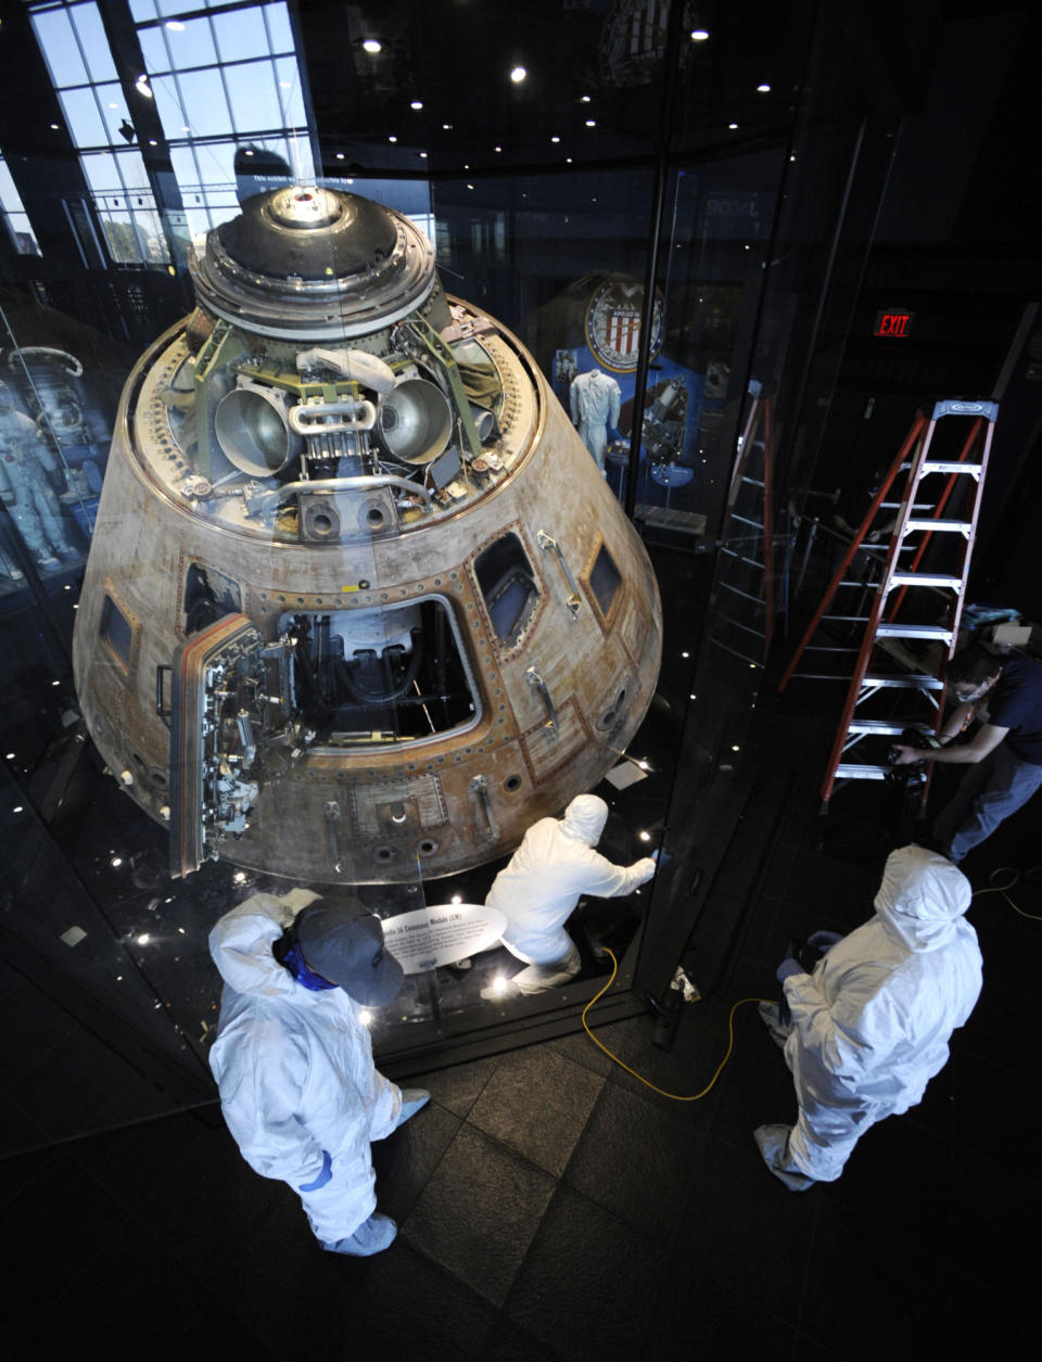
<svg viewBox="0 0 1042 1362">
<path fill-rule="evenodd" d="M 376 1209 L 369 1141 L 394 1130 L 402 1094 L 373 1065 L 358 1004 L 343 989 L 305 989 L 271 953 L 294 917 L 282 899 L 255 893 L 210 933 L 225 981 L 210 1068 L 247 1163 L 287 1182 L 315 1237 L 332 1246 Z M 331 1179 L 302 1192 L 324 1152 Z"/>
</svg>

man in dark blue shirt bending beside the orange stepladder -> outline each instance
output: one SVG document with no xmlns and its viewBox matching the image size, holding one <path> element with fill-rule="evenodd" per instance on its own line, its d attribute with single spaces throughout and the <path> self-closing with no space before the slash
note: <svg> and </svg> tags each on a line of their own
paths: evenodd
<svg viewBox="0 0 1042 1362">
<path fill-rule="evenodd" d="M 1042 663 L 971 644 L 952 658 L 947 680 L 959 704 L 937 734 L 945 746 L 898 746 L 895 765 L 925 757 L 973 767 L 934 823 L 938 850 L 958 865 L 1042 785 Z M 982 707 L 974 737 L 952 744 Z"/>
</svg>

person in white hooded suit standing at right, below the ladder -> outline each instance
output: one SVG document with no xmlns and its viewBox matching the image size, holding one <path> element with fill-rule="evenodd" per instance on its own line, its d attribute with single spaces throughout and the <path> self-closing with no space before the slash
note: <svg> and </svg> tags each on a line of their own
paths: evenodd
<svg viewBox="0 0 1042 1362">
<path fill-rule="evenodd" d="M 791 1023 L 778 1026 L 776 1007 L 761 1013 L 785 1043 L 800 1117 L 761 1125 L 755 1139 L 791 1190 L 834 1182 L 865 1130 L 921 1102 L 944 1068 L 951 1034 L 981 993 L 977 933 L 963 917 L 970 898 L 951 861 L 902 847 L 887 858 L 864 926 L 817 933 L 827 949 L 810 974 L 795 960 L 779 967 Z"/>
</svg>

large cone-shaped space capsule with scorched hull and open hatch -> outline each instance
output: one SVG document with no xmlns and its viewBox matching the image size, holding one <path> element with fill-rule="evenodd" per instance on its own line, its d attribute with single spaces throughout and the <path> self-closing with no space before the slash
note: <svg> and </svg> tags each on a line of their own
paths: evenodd
<svg viewBox="0 0 1042 1362">
<path fill-rule="evenodd" d="M 74 637 L 89 730 L 219 858 L 320 884 L 509 851 L 658 676 L 644 548 L 531 355 L 405 217 L 249 199 L 123 392 Z"/>
</svg>

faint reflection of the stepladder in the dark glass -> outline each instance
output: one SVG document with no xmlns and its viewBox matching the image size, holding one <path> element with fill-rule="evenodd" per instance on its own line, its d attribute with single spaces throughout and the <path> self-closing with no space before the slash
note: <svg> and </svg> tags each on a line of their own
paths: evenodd
<svg viewBox="0 0 1042 1362">
<path fill-rule="evenodd" d="M 752 381 L 749 394 L 753 400 L 738 437 L 719 539 L 711 642 L 761 667 L 775 614 L 774 422 L 772 400 L 760 384 Z"/>
</svg>

